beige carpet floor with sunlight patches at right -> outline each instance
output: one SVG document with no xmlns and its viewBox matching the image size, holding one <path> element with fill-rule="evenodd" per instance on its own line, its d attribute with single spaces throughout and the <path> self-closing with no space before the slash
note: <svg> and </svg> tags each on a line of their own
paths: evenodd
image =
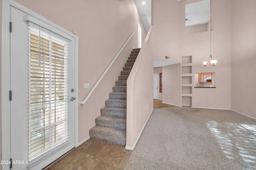
<svg viewBox="0 0 256 170">
<path fill-rule="evenodd" d="M 154 109 L 124 169 L 256 169 L 256 120 L 228 110 Z"/>
</svg>

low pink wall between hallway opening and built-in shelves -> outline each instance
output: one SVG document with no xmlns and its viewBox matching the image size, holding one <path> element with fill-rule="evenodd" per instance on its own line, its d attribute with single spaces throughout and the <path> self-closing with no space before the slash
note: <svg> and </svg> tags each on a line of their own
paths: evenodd
<svg viewBox="0 0 256 170">
<path fill-rule="evenodd" d="M 181 106 L 180 72 L 180 63 L 163 67 L 163 103 Z"/>
</svg>

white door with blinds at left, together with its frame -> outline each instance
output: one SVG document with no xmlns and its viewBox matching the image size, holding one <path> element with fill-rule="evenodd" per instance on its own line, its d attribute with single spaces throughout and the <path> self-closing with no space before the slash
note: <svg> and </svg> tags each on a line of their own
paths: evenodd
<svg viewBox="0 0 256 170">
<path fill-rule="evenodd" d="M 76 144 L 76 36 L 19 4 L 3 0 L 3 9 L 2 168 L 42 169 Z"/>
</svg>

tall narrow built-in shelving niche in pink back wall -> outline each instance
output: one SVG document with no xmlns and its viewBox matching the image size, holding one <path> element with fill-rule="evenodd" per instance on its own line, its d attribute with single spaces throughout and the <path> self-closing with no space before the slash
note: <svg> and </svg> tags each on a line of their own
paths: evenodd
<svg viewBox="0 0 256 170">
<path fill-rule="evenodd" d="M 182 56 L 181 64 L 182 106 L 192 106 L 192 56 Z"/>
</svg>

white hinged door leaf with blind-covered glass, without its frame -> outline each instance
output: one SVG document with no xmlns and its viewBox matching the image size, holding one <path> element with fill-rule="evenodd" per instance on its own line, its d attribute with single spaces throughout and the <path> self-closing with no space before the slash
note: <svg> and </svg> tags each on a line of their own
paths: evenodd
<svg viewBox="0 0 256 170">
<path fill-rule="evenodd" d="M 28 31 L 28 22 L 24 22 L 26 15 L 11 7 L 10 154 L 11 168 L 14 170 L 42 169 L 75 146 L 74 57 L 68 56 L 69 77 L 58 77 L 57 74 L 61 69 L 57 69 L 56 65 L 54 67 L 54 64 L 61 63 L 58 57 L 61 54 L 52 50 L 48 52 L 48 58 L 43 61 L 45 51 L 49 49 L 42 49 L 43 47 L 40 46 L 50 38 L 43 38 L 40 35 L 35 36 L 38 43 L 34 46 L 38 51 L 32 49 L 34 42 L 32 42 L 32 33 Z M 38 26 L 38 28 L 41 27 Z M 40 29 L 39 32 L 42 30 L 47 32 L 48 37 L 55 36 L 45 28 Z M 54 40 L 47 44 L 46 47 L 54 48 Z M 57 43 L 55 46 L 58 45 Z M 74 46 L 71 43 L 69 48 L 70 53 L 74 52 Z M 38 52 L 38 63 L 31 59 L 32 51 Z M 33 63 L 43 66 L 32 66 Z M 65 65 L 64 61 L 61 64 Z M 63 66 L 60 65 L 58 68 Z M 47 78 L 43 77 L 44 75 L 47 75 Z M 60 79 L 65 80 L 63 88 L 61 83 L 58 84 Z M 47 93 L 46 95 L 41 94 L 42 89 Z M 40 96 L 43 98 L 38 99 Z"/>
</svg>

